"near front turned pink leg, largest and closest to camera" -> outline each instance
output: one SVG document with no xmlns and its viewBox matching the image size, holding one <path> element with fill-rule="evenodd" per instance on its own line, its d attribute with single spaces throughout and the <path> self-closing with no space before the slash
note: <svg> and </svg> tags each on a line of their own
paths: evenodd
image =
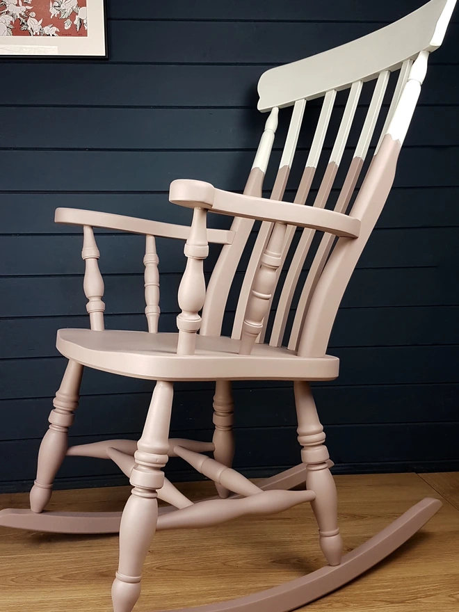
<svg viewBox="0 0 459 612">
<path fill-rule="evenodd" d="M 120 561 L 111 590 L 114 612 L 131 612 L 140 596 L 142 567 L 158 520 L 156 491 L 163 486 L 161 468 L 168 461 L 172 396 L 172 383 L 159 380 L 134 455 L 134 488 L 122 513 Z"/>
</svg>

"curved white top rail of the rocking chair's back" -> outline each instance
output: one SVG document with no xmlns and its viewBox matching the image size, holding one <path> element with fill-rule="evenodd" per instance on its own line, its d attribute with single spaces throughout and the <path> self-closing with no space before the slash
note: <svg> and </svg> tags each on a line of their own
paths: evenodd
<svg viewBox="0 0 459 612">
<path fill-rule="evenodd" d="M 397 70 L 419 51 L 443 42 L 456 0 L 430 0 L 398 22 L 367 36 L 290 64 L 267 70 L 258 82 L 259 111 L 314 99 L 330 89 L 370 81 L 383 70 Z"/>
</svg>

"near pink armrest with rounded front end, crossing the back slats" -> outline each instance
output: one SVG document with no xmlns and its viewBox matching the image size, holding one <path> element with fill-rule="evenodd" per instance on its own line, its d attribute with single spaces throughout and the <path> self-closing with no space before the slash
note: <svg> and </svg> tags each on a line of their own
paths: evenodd
<svg viewBox="0 0 459 612">
<path fill-rule="evenodd" d="M 173 181 L 170 184 L 169 200 L 180 206 L 201 207 L 223 215 L 309 227 L 335 236 L 357 238 L 360 232 L 360 220 L 348 215 L 312 206 L 222 191 L 202 181 Z"/>
</svg>

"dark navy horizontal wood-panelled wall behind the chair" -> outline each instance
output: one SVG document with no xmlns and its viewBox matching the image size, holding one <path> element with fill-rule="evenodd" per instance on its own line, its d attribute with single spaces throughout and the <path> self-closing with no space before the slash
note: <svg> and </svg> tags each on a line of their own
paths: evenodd
<svg viewBox="0 0 459 612">
<path fill-rule="evenodd" d="M 190 211 L 168 203 L 170 181 L 243 188 L 266 120 L 255 110 L 262 72 L 420 5 L 110 0 L 108 61 L 0 61 L 0 491 L 24 490 L 34 477 L 65 367 L 56 329 L 88 326 L 81 235 L 54 225 L 54 209 L 188 223 Z M 459 469 L 458 35 L 456 12 L 432 56 L 394 190 L 339 311 L 330 352 L 341 358 L 341 375 L 316 385 L 339 472 Z M 369 95 L 362 93 L 364 105 Z M 313 125 L 319 106 L 309 106 Z M 357 111 L 357 123 L 364 113 Z M 338 120 L 332 118 L 332 132 Z M 325 148 L 331 144 L 325 140 Z M 301 138 L 299 147 L 305 156 Z M 229 220 L 213 222 L 227 227 Z M 98 245 L 107 328 L 145 329 L 143 240 L 100 231 Z M 158 248 L 160 329 L 173 330 L 182 244 L 159 240 Z M 211 250 L 207 274 L 217 255 Z M 233 291 L 225 331 L 235 307 Z M 236 465 L 259 476 L 297 462 L 291 387 L 235 387 Z M 88 371 L 72 441 L 138 437 L 151 389 L 147 381 Z M 177 385 L 177 435 L 211 437 L 211 397 L 208 383 Z M 195 477 L 179 460 L 168 472 L 172 479 Z M 83 458 L 67 460 L 58 478 L 65 487 L 118 482 L 124 478 L 111 463 Z"/>
</svg>

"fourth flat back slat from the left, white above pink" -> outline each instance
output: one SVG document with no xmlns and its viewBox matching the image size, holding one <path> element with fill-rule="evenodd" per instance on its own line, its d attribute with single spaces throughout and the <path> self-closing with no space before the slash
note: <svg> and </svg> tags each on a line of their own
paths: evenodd
<svg viewBox="0 0 459 612">
<path fill-rule="evenodd" d="M 371 138 L 376 127 L 376 122 L 378 121 L 381 106 L 383 105 L 385 91 L 387 89 L 387 84 L 389 83 L 389 74 L 390 73 L 387 70 L 381 72 L 378 77 L 378 81 L 376 81 L 376 86 L 373 91 L 373 96 L 371 98 L 367 117 L 365 118 L 362 132 L 357 142 L 357 146 L 355 147 L 353 160 L 351 161 L 351 165 L 349 166 L 346 179 L 337 199 L 337 204 L 335 205 L 335 211 L 339 213 L 345 213 L 348 208 L 349 202 L 351 202 L 351 198 L 355 190 L 355 185 L 357 184 L 357 180 L 360 176 L 360 172 L 362 171 L 362 167 L 364 164 L 364 159 L 366 158 L 369 150 Z M 325 234 L 321 239 L 319 248 L 317 249 L 316 255 L 314 256 L 314 260 L 312 261 L 311 268 L 309 269 L 309 273 L 303 286 L 303 291 L 301 292 L 300 299 L 298 300 L 295 318 L 293 319 L 293 325 L 291 327 L 291 334 L 288 344 L 288 348 L 291 351 L 296 351 L 296 349 L 298 348 L 300 332 L 303 328 L 303 323 L 305 322 L 305 316 L 309 307 L 309 302 L 312 297 L 312 293 L 314 293 L 314 289 L 316 288 L 316 284 L 319 281 L 319 278 L 323 271 L 323 267 L 325 266 L 328 256 L 330 255 L 330 251 L 332 250 L 334 242 L 334 236 L 332 236 L 331 234 Z M 287 319 L 287 316 L 284 316 L 284 320 L 285 319 Z M 282 329 L 282 335 L 283 333 L 284 328 Z M 282 341 L 282 337 L 280 340 Z M 279 346 L 278 343 L 279 337 L 271 339 L 270 344 L 272 346 Z"/>
</svg>

